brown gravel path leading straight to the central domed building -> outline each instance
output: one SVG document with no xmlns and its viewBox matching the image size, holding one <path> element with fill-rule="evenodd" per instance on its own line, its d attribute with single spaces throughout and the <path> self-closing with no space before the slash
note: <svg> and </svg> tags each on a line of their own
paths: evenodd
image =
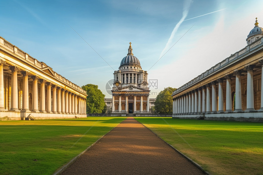
<svg viewBox="0 0 263 175">
<path fill-rule="evenodd" d="M 127 118 L 61 174 L 204 173 L 141 123 Z"/>
</svg>

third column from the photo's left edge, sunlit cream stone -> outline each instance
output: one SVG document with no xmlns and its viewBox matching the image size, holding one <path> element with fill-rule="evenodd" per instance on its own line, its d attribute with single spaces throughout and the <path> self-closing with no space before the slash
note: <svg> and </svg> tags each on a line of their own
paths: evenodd
<svg viewBox="0 0 263 175">
<path fill-rule="evenodd" d="M 1 66 L 0 66 L 1 69 Z M 23 94 L 22 94 L 22 110 L 29 111 L 29 102 L 28 102 L 28 76 L 30 72 L 21 71 L 23 75 Z M 1 83 L 1 82 L 0 82 Z M 0 108 L 1 109 L 1 108 Z"/>
</svg>

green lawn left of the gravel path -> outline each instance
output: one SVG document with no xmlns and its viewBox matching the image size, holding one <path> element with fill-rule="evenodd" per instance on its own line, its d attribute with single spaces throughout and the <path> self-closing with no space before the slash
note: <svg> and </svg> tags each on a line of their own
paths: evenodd
<svg viewBox="0 0 263 175">
<path fill-rule="evenodd" d="M 125 117 L 98 119 L 0 121 L 0 174 L 53 174 Z"/>
</svg>

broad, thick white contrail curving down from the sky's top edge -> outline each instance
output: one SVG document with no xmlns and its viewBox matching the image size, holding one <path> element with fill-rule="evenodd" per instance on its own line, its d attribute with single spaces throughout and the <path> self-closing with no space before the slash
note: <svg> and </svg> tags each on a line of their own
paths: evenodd
<svg viewBox="0 0 263 175">
<path fill-rule="evenodd" d="M 190 9 L 190 5 L 191 5 L 191 0 L 186 0 L 184 1 L 184 4 L 183 4 L 183 16 L 182 18 L 180 19 L 180 21 L 176 24 L 176 26 L 174 27 L 172 33 L 171 33 L 171 36 L 170 38 L 168 39 L 168 42 L 166 43 L 166 46 L 165 48 L 163 49 L 163 51 L 161 52 L 161 55 L 160 55 L 160 58 L 162 57 L 162 55 L 164 55 L 165 51 L 169 48 L 171 42 L 172 42 L 172 39 L 174 37 L 174 34 L 176 33 L 177 29 L 180 27 L 180 25 L 182 24 L 182 22 L 184 21 L 184 19 L 186 18 L 187 14 L 188 14 L 188 11 Z"/>
</svg>

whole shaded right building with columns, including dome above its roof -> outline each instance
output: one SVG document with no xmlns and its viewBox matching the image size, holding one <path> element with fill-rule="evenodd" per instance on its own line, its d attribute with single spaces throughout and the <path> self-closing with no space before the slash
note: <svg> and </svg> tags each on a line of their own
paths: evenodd
<svg viewBox="0 0 263 175">
<path fill-rule="evenodd" d="M 174 91 L 173 117 L 263 118 L 263 32 L 257 20 L 246 41 L 245 48 Z"/>
</svg>

